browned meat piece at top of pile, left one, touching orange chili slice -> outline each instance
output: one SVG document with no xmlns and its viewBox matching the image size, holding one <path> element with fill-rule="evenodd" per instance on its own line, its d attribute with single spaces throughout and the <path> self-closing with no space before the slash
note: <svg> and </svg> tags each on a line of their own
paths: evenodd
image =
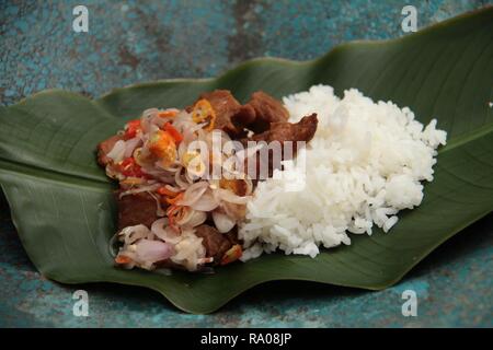
<svg viewBox="0 0 493 350">
<path fill-rule="evenodd" d="M 221 129 L 231 137 L 243 133 L 243 126 L 232 120 L 232 117 L 240 110 L 241 105 L 228 90 L 215 90 L 203 93 L 198 100 L 203 98 L 210 103 L 216 113 L 215 129 Z M 193 106 L 187 107 L 188 112 L 192 109 Z"/>
</svg>

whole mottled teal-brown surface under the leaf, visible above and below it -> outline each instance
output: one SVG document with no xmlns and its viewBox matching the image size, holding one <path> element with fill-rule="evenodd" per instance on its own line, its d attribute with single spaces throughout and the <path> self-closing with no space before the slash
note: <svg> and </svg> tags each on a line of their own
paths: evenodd
<svg viewBox="0 0 493 350">
<path fill-rule="evenodd" d="M 404 35 L 401 9 L 419 26 L 492 1 L 4 1 L 0 0 L 0 103 L 62 88 L 90 96 L 136 82 L 211 77 L 256 56 L 311 59 L 352 39 Z M 89 33 L 71 30 L 76 4 Z M 112 285 L 60 285 L 36 272 L 0 197 L 0 326 L 420 327 L 493 326 L 493 217 L 439 247 L 398 285 L 380 292 L 272 282 L 213 315 L 187 315 L 158 293 Z M 72 315 L 89 292 L 90 316 Z M 417 293 L 403 317 L 401 293 Z"/>
</svg>

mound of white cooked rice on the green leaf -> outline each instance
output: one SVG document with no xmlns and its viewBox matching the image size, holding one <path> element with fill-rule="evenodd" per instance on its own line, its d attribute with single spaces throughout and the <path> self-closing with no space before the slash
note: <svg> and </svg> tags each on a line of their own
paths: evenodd
<svg viewBox="0 0 493 350">
<path fill-rule="evenodd" d="M 349 245 L 348 233 L 388 232 L 401 209 L 423 200 L 433 180 L 436 149 L 447 133 L 433 119 L 425 128 L 410 108 L 374 103 L 355 89 L 340 100 L 317 85 L 283 100 L 290 121 L 317 113 L 313 140 L 278 178 L 261 182 L 239 231 L 242 260 L 276 249 L 314 257 L 319 247 Z"/>
</svg>

